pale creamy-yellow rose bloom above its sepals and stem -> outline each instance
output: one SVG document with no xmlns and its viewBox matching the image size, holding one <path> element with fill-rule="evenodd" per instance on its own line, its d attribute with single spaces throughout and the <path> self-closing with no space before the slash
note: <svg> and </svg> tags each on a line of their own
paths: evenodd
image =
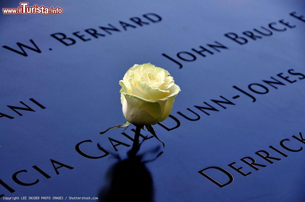
<svg viewBox="0 0 305 202">
<path fill-rule="evenodd" d="M 120 81 L 126 120 L 138 126 L 164 121 L 181 91 L 173 79 L 167 70 L 150 63 L 131 67 Z"/>
</svg>

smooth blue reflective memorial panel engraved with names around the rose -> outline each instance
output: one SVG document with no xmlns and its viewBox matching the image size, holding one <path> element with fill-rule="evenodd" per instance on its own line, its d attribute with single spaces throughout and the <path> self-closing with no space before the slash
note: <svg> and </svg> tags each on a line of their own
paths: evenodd
<svg viewBox="0 0 305 202">
<path fill-rule="evenodd" d="M 0 14 L 1 46 L 23 53 L 16 43 L 36 49 L 31 39 L 40 50 L 0 47 L 0 195 L 304 201 L 303 1 L 29 1 L 42 3 L 63 14 Z M 119 31 L 100 28 L 109 24 Z M 118 81 L 147 62 L 181 92 L 172 117 L 154 126 L 165 148 L 142 130 L 149 139 L 128 155 L 134 127 L 99 132 L 124 123 Z M 32 111 L 8 107 L 27 108 L 20 101 Z"/>
</svg>

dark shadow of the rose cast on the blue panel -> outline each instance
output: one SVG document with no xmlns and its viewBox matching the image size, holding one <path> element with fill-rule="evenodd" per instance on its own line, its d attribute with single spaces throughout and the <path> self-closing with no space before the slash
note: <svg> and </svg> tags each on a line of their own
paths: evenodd
<svg viewBox="0 0 305 202">
<path fill-rule="evenodd" d="M 126 159 L 112 154 L 117 162 L 106 173 L 105 182 L 108 184 L 101 188 L 99 201 L 154 201 L 153 179 L 145 164 L 156 160 L 163 151 L 151 160 L 142 161 L 145 154 L 158 153 L 160 150 L 160 146 L 157 146 L 137 155 L 142 143 L 143 141 L 140 144 L 134 142 Z"/>
</svg>

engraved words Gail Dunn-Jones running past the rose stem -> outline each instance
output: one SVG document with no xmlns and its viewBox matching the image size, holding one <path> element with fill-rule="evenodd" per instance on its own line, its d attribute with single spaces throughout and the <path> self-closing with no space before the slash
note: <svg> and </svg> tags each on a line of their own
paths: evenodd
<svg viewBox="0 0 305 202">
<path fill-rule="evenodd" d="M 255 94 L 258 95 L 262 95 L 262 94 L 267 94 L 269 92 L 269 88 L 271 89 L 278 89 L 279 86 L 285 86 L 286 84 L 292 84 L 297 82 L 298 80 L 303 80 L 305 79 L 305 74 L 302 73 L 298 73 L 295 72 L 294 69 L 289 69 L 288 74 L 294 76 L 296 79 L 290 78 L 289 76 L 287 76 L 286 74 L 283 74 L 282 72 L 277 74 L 277 79 L 274 77 L 270 77 L 272 80 L 267 80 L 267 79 L 263 79 L 261 83 L 251 83 L 248 85 L 248 90 L 244 90 L 241 89 L 237 86 L 233 86 L 234 89 L 236 89 L 240 95 L 242 96 L 246 96 L 248 98 L 250 98 L 250 100 L 252 101 L 252 103 L 257 101 L 257 98 L 255 97 Z M 246 92 L 248 91 L 248 92 Z M 251 93 L 251 94 L 250 94 Z M 255 93 L 255 94 L 253 94 Z M 235 106 L 236 104 L 233 102 L 234 99 L 237 99 L 240 97 L 240 95 L 234 95 L 232 96 L 232 98 L 226 98 L 224 96 L 220 96 L 221 99 L 210 99 L 210 101 L 208 102 L 203 102 L 205 105 L 204 106 L 198 106 L 198 105 L 194 105 L 193 107 L 195 107 L 195 109 L 197 110 L 197 112 L 195 112 L 195 109 L 190 109 L 190 108 L 186 108 L 189 112 L 191 112 L 192 115 L 185 115 L 183 113 L 181 113 L 180 111 L 177 112 L 177 114 L 179 114 L 181 117 L 185 118 L 188 121 L 198 121 L 201 118 L 201 114 L 199 115 L 199 111 L 203 112 L 204 114 L 206 114 L 207 116 L 210 116 L 211 112 L 220 112 L 221 109 L 227 109 L 228 105 L 229 106 Z M 158 123 L 158 125 L 160 125 L 162 128 L 166 129 L 167 131 L 171 131 L 174 130 L 178 127 L 181 126 L 181 121 L 172 115 L 172 113 L 169 116 L 172 120 L 174 120 L 173 123 L 175 123 L 174 125 L 168 127 L 162 123 Z M 131 129 L 132 132 L 135 132 L 134 129 Z M 121 133 L 122 135 L 124 135 L 126 138 L 128 138 L 129 140 L 131 140 L 132 142 L 134 141 L 134 139 L 132 139 L 129 135 L 127 135 L 125 132 Z M 145 140 L 147 139 L 151 139 L 153 138 L 153 136 L 150 137 L 146 137 L 145 135 L 141 135 L 141 137 Z M 124 147 L 130 147 L 131 143 L 128 144 L 126 142 L 121 142 L 119 140 L 113 139 L 113 138 L 108 138 L 109 142 L 111 143 L 111 145 L 113 146 L 113 149 L 117 152 L 118 151 L 118 146 L 124 146 Z M 77 143 L 77 145 L 75 146 L 75 150 L 81 154 L 83 157 L 86 158 L 90 158 L 90 159 L 100 159 L 103 157 L 106 157 L 108 154 L 110 154 L 107 150 L 105 150 L 103 147 L 98 146 L 98 149 L 101 150 L 103 152 L 103 155 L 101 156 L 90 156 L 89 154 L 85 153 L 84 151 L 82 151 L 80 149 L 80 146 L 83 143 L 86 142 L 92 142 L 91 140 L 84 140 L 82 142 Z"/>
</svg>

